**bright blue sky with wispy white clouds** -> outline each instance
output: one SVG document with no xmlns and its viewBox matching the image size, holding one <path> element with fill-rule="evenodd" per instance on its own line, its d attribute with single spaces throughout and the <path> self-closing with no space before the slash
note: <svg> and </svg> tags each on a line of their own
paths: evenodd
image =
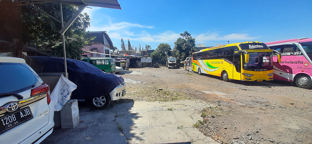
<svg viewBox="0 0 312 144">
<path fill-rule="evenodd" d="M 272 42 L 312 37 L 312 0 L 181 1 L 118 0 L 122 10 L 92 7 L 89 31 L 107 31 L 114 46 L 171 48 L 188 31 L 206 47 L 245 41 Z"/>
</svg>

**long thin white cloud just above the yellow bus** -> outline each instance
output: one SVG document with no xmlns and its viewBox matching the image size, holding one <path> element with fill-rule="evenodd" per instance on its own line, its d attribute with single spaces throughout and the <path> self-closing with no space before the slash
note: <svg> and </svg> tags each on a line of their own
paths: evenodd
<svg viewBox="0 0 312 144">
<path fill-rule="evenodd" d="M 203 33 L 194 38 L 196 42 L 204 43 L 207 41 L 219 41 L 219 40 L 253 40 L 258 37 L 249 37 L 249 34 L 246 33 L 232 33 L 225 36 L 220 36 L 217 33 Z"/>
</svg>

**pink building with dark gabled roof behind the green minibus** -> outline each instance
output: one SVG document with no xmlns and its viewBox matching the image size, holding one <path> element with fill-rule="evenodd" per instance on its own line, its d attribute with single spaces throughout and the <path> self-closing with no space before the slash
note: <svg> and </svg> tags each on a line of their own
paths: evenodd
<svg viewBox="0 0 312 144">
<path fill-rule="evenodd" d="M 90 52 L 98 52 L 98 53 L 110 54 L 110 50 L 114 50 L 113 42 L 111 41 L 106 31 L 89 32 L 85 37 L 96 37 L 96 38 L 90 41 L 93 43 L 91 43 L 90 45 L 82 49 L 83 51 L 89 51 L 89 52 L 85 52 L 83 56 L 85 57 L 110 57 L 109 55 L 90 53 Z"/>
</svg>

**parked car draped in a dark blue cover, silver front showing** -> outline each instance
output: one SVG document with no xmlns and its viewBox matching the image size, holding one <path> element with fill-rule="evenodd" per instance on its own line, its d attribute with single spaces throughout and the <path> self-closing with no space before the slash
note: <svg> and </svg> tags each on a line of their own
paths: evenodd
<svg viewBox="0 0 312 144">
<path fill-rule="evenodd" d="M 59 57 L 30 57 L 41 66 L 41 73 L 65 72 L 64 59 Z M 71 99 L 84 99 L 96 109 L 106 108 L 111 101 L 126 94 L 124 78 L 106 73 L 88 62 L 66 59 L 68 79 L 77 85 Z"/>
</svg>

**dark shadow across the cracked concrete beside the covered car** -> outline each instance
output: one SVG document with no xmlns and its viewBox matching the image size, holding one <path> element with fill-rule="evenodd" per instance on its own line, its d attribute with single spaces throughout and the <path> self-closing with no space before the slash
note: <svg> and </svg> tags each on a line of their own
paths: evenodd
<svg viewBox="0 0 312 144">
<path fill-rule="evenodd" d="M 91 109 L 79 102 L 80 123 L 74 129 L 56 128 L 44 144 L 127 144 L 132 138 L 141 139 L 130 132 L 137 113 L 130 113 L 132 99 L 122 99 L 104 110 Z M 127 137 L 126 137 L 127 136 Z"/>
</svg>

